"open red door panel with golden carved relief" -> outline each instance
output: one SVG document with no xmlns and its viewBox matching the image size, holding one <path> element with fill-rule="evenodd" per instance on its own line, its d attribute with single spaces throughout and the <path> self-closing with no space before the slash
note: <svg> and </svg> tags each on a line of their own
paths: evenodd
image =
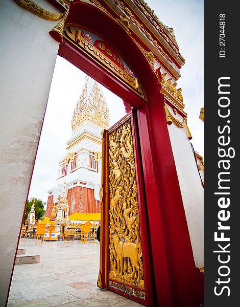
<svg viewBox="0 0 240 307">
<path fill-rule="evenodd" d="M 98 287 L 153 304 L 147 210 L 134 111 L 103 135 Z"/>
</svg>

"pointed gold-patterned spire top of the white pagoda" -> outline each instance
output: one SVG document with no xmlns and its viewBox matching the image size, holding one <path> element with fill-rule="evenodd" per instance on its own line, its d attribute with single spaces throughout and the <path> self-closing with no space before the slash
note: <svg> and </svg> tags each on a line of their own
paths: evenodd
<svg viewBox="0 0 240 307">
<path fill-rule="evenodd" d="M 73 112 L 71 128 L 74 131 L 84 122 L 93 123 L 103 129 L 107 129 L 109 125 L 109 111 L 102 86 L 87 75 Z"/>
</svg>

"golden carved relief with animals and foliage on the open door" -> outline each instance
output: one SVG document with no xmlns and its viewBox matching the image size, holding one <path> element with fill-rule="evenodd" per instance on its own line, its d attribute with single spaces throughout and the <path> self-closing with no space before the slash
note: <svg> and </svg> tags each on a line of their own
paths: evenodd
<svg viewBox="0 0 240 307">
<path fill-rule="evenodd" d="M 109 278 L 144 290 L 131 119 L 109 133 Z"/>
</svg>

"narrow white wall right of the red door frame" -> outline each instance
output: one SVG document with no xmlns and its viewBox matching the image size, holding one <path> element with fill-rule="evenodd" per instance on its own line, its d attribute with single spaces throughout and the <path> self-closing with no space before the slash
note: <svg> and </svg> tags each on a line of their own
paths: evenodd
<svg viewBox="0 0 240 307">
<path fill-rule="evenodd" d="M 167 106 L 172 115 L 173 109 Z M 182 122 L 182 117 L 174 115 Z M 198 120 L 198 119 L 196 119 Z M 185 128 L 167 125 L 196 267 L 204 266 L 204 190 Z M 193 136 L 194 137 L 194 136 Z"/>
</svg>

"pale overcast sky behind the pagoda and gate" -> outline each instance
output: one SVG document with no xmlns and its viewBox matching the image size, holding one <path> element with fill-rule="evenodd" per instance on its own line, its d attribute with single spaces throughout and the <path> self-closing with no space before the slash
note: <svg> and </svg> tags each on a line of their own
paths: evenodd
<svg viewBox="0 0 240 307">
<path fill-rule="evenodd" d="M 148 0 L 148 5 L 174 34 L 186 60 L 178 86 L 182 88 L 187 122 L 196 151 L 204 155 L 204 123 L 199 119 L 204 106 L 204 2 L 198 0 Z M 81 93 L 85 74 L 64 58 L 57 57 L 49 100 L 42 127 L 28 199 L 47 201 L 47 190 L 57 179 L 58 162 L 65 156 L 71 138 L 71 116 Z M 104 89 L 110 125 L 125 114 L 123 102 Z"/>
</svg>

